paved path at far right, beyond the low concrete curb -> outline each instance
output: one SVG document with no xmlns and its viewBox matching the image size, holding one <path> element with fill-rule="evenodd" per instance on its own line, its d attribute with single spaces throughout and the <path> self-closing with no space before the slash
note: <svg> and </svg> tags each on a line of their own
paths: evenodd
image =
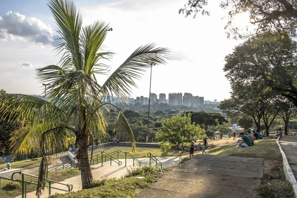
<svg viewBox="0 0 297 198">
<path fill-rule="evenodd" d="M 295 178 L 297 178 L 297 136 L 283 136 L 279 139 L 279 143 L 287 156 Z"/>
</svg>

